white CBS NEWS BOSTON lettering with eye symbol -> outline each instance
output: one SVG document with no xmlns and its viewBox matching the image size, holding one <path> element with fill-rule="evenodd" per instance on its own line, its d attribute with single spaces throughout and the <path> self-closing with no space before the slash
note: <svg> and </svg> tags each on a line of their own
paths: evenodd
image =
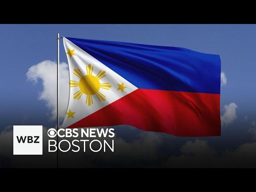
<svg viewBox="0 0 256 192">
<path fill-rule="evenodd" d="M 79 134 L 80 133 L 80 134 Z M 86 148 L 90 149 L 92 152 L 100 152 L 103 150 L 103 152 L 106 152 L 107 150 L 114 152 L 114 140 L 89 140 L 89 139 L 74 139 L 70 140 L 71 138 L 113 138 L 115 136 L 114 129 L 113 128 L 81 128 L 81 129 L 59 129 L 56 131 L 56 129 L 51 128 L 48 130 L 48 136 L 50 138 L 54 138 L 58 135 L 59 138 L 67 138 L 62 139 L 58 142 L 58 148 L 57 148 L 57 142 L 56 140 L 49 139 L 48 140 L 48 152 L 56 152 L 57 149 L 59 149 L 61 152 L 79 152 L 81 148 L 83 148 L 83 151 L 86 152 Z"/>
</svg>

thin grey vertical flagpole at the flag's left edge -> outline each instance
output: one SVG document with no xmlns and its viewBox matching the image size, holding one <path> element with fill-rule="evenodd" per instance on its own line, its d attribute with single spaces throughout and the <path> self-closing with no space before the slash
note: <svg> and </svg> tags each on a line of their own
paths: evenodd
<svg viewBox="0 0 256 192">
<path fill-rule="evenodd" d="M 59 64 L 60 64 L 60 34 L 57 36 L 57 128 L 56 131 L 59 130 Z M 59 168 L 59 139 L 57 134 L 57 168 Z"/>
</svg>

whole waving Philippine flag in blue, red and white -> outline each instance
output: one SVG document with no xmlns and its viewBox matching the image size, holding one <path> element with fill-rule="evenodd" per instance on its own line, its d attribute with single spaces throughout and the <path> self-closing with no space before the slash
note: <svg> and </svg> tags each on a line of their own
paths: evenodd
<svg viewBox="0 0 256 192">
<path fill-rule="evenodd" d="M 63 38 L 70 96 L 64 128 L 130 125 L 220 136 L 220 57 L 185 48 Z"/>
</svg>

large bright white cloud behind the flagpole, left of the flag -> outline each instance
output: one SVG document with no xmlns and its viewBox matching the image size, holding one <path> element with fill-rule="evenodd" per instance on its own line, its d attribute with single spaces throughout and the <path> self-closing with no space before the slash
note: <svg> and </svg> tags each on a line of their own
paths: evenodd
<svg viewBox="0 0 256 192">
<path fill-rule="evenodd" d="M 43 90 L 39 93 L 39 100 L 44 100 L 50 110 L 51 120 L 57 116 L 57 67 L 56 62 L 45 60 L 28 69 L 26 76 L 28 80 L 37 83 L 42 80 Z M 68 106 L 69 96 L 69 76 L 68 65 L 65 62 L 60 63 L 60 119 L 63 119 Z"/>
</svg>

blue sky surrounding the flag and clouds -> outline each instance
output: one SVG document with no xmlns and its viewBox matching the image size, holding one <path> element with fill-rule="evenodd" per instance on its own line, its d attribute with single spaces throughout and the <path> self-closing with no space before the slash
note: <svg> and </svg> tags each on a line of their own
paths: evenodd
<svg viewBox="0 0 256 192">
<path fill-rule="evenodd" d="M 38 100 L 42 82 L 39 80 L 33 84 L 27 80 L 26 73 L 31 66 L 44 60 L 56 61 L 57 32 L 60 36 L 74 38 L 176 46 L 219 54 L 222 72 L 227 78 L 226 86 L 221 87 L 221 112 L 224 113 L 224 105 L 234 102 L 238 106 L 237 118 L 222 128 L 220 138 L 207 140 L 216 148 L 225 145 L 228 149 L 252 142 L 248 129 L 256 119 L 256 25 L 0 25 L 0 129 L 13 124 L 43 124 L 48 127 L 56 124 L 47 115 L 49 109 L 44 100 Z M 60 62 L 67 62 L 62 40 Z M 178 140 L 184 143 L 190 139 Z"/>
</svg>

